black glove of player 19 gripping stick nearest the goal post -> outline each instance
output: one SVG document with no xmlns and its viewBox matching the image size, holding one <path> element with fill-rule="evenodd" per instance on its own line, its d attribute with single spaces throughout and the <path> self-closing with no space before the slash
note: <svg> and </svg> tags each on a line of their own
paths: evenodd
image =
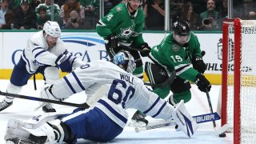
<svg viewBox="0 0 256 144">
<path fill-rule="evenodd" d="M 206 92 L 206 90 L 210 91 L 210 82 L 202 74 L 198 74 L 196 76 L 195 84 L 198 86 L 198 89 L 202 92 Z"/>
</svg>

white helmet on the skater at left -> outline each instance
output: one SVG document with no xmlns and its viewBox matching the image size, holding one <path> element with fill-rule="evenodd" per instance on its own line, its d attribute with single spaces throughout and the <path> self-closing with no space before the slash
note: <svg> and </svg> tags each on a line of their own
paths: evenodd
<svg viewBox="0 0 256 144">
<path fill-rule="evenodd" d="M 46 32 L 47 35 L 50 35 L 54 38 L 60 38 L 61 37 L 62 30 L 58 26 L 58 22 L 47 21 L 44 24 L 42 30 L 44 32 Z"/>
</svg>

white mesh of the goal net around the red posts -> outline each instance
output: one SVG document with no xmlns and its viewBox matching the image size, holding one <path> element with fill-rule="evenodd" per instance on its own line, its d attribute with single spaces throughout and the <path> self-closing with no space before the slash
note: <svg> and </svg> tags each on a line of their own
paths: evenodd
<svg viewBox="0 0 256 144">
<path fill-rule="evenodd" d="M 241 143 L 256 142 L 256 21 L 241 21 Z M 234 25 L 229 27 L 227 123 L 234 127 Z"/>
</svg>

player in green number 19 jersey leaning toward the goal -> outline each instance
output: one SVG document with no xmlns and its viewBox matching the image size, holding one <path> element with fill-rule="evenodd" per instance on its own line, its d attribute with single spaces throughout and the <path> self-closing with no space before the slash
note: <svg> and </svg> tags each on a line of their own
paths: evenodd
<svg viewBox="0 0 256 144">
<path fill-rule="evenodd" d="M 198 89 L 203 92 L 210 91 L 211 85 L 202 75 L 206 70 L 206 64 L 202 60 L 198 38 L 190 32 L 189 24 L 185 21 L 174 22 L 173 30 L 174 32 L 164 38 L 159 45 L 152 47 L 149 58 L 154 63 L 146 62 L 145 71 L 153 87 L 165 82 L 168 74 L 176 71 L 174 82 L 154 87 L 154 93 L 160 98 L 166 98 L 171 90 L 173 94 L 169 102 L 175 105 L 182 99 L 184 102 L 190 101 L 190 82 L 195 82 Z"/>
</svg>

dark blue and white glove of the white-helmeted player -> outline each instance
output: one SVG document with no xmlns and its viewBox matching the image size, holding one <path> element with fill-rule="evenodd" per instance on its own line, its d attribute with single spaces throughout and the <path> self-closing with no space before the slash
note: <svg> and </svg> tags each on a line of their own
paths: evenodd
<svg viewBox="0 0 256 144">
<path fill-rule="evenodd" d="M 74 57 L 72 57 L 72 55 L 66 50 L 63 54 L 58 56 L 55 64 L 56 66 L 59 66 L 63 72 L 70 73 L 72 71 L 72 63 L 70 62 L 74 62 Z"/>
</svg>

